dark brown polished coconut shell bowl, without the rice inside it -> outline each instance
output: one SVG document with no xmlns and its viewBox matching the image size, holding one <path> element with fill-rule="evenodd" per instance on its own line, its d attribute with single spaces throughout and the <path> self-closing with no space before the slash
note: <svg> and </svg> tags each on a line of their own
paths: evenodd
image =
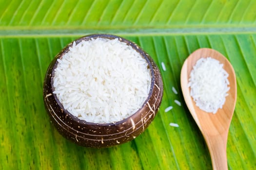
<svg viewBox="0 0 256 170">
<path fill-rule="evenodd" d="M 69 47 L 72 46 L 73 42 L 60 51 L 48 67 L 43 83 L 43 99 L 51 122 L 62 136 L 84 147 L 105 148 L 133 140 L 146 130 L 155 118 L 162 101 L 163 83 L 159 69 L 153 59 L 138 45 L 129 40 L 110 34 L 92 34 L 83 36 L 75 41 L 78 44 L 82 40 L 86 41 L 98 37 L 118 38 L 120 41 L 132 46 L 147 61 L 151 71 L 151 87 L 149 96 L 142 107 L 126 119 L 115 123 L 102 124 L 78 119 L 65 110 L 56 94 L 53 94 L 53 76 L 54 69 L 58 65 L 57 59 L 60 59 L 64 53 L 69 51 Z"/>
</svg>

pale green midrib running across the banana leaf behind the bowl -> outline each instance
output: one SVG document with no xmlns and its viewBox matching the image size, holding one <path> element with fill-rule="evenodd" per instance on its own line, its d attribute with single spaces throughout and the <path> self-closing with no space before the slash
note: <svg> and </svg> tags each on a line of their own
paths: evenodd
<svg viewBox="0 0 256 170">
<path fill-rule="evenodd" d="M 172 34 L 248 34 L 256 33 L 256 25 L 176 25 L 172 27 L 61 27 L 0 26 L 0 37 L 82 36 L 85 34 L 172 35 Z"/>
</svg>

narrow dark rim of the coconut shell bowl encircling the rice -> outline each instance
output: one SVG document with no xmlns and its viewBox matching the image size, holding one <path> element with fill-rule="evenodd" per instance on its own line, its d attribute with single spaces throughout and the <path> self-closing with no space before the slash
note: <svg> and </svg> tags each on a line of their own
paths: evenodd
<svg viewBox="0 0 256 170">
<path fill-rule="evenodd" d="M 153 88 L 154 88 L 154 84 L 155 84 L 155 71 L 154 71 L 154 67 L 153 67 L 153 59 L 150 57 L 149 54 L 147 54 L 145 51 L 143 51 L 136 43 L 130 41 L 130 40 L 127 40 L 121 36 L 118 36 L 118 35 L 113 35 L 113 34 L 88 34 L 88 35 L 85 35 L 85 36 L 81 36 L 75 40 L 73 40 L 71 43 L 69 43 L 67 46 L 65 46 L 56 56 L 55 56 L 55 62 L 54 62 L 54 66 L 52 68 L 52 71 L 51 71 L 51 78 L 50 78 L 50 83 L 51 83 L 51 88 L 52 90 L 54 91 L 54 86 L 53 86 L 53 78 L 54 78 L 54 73 L 55 73 L 55 68 L 57 68 L 58 66 L 58 61 L 57 59 L 61 59 L 63 57 L 63 55 L 65 53 L 67 53 L 69 51 L 69 47 L 72 47 L 73 45 L 73 42 L 75 41 L 76 44 L 79 44 L 81 41 L 88 41 L 92 38 L 108 38 L 108 39 L 116 39 L 118 38 L 119 41 L 121 42 L 124 42 L 126 43 L 127 45 L 131 46 L 134 50 L 136 50 L 140 55 L 141 57 L 143 57 L 146 62 L 148 63 L 148 66 L 149 66 L 149 69 L 150 69 L 150 74 L 151 74 L 151 84 L 150 84 L 150 90 L 149 90 L 149 93 L 148 93 L 148 97 L 146 98 L 146 100 L 143 102 L 143 104 L 141 105 L 141 107 L 135 112 L 133 113 L 132 115 L 128 116 L 127 118 L 125 119 L 121 119 L 119 121 L 116 121 L 116 122 L 110 122 L 110 123 L 95 123 L 95 122 L 90 122 L 90 121 L 86 121 L 86 120 L 83 120 L 83 119 L 79 119 L 77 116 L 74 116 L 73 114 L 71 114 L 69 111 L 67 111 L 62 103 L 59 101 L 58 97 L 56 94 L 53 93 L 53 97 L 55 99 L 55 101 L 58 103 L 60 109 L 63 110 L 63 114 L 66 114 L 66 116 L 70 117 L 70 119 L 76 121 L 76 122 L 79 122 L 79 123 L 82 123 L 82 124 L 87 124 L 87 125 L 96 125 L 96 126 L 116 126 L 118 124 L 122 124 L 126 121 L 128 121 L 129 119 L 131 119 L 131 117 L 133 117 L 134 115 L 137 115 L 137 114 L 140 114 L 141 113 L 141 110 L 143 109 L 143 107 L 146 105 L 146 103 L 150 100 L 152 94 L 153 94 Z"/>
</svg>

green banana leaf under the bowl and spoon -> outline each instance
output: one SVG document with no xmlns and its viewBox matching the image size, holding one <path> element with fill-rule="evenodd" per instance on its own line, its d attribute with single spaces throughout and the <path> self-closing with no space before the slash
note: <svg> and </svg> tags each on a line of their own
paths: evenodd
<svg viewBox="0 0 256 170">
<path fill-rule="evenodd" d="M 193 51 L 212 48 L 236 72 L 228 168 L 254 170 L 255 9 L 255 0 L 0 0 L 0 169 L 211 170 L 206 143 L 181 93 L 180 69 Z M 164 85 L 159 112 L 145 132 L 104 149 L 60 136 L 42 97 L 55 55 L 74 39 L 98 33 L 137 43 L 158 65 Z M 173 109 L 165 112 L 168 106 Z"/>
</svg>

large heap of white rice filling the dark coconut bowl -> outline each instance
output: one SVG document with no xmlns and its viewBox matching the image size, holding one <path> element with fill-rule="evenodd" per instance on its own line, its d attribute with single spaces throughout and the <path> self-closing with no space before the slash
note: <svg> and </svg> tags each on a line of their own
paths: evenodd
<svg viewBox="0 0 256 170">
<path fill-rule="evenodd" d="M 73 43 L 58 59 L 54 92 L 63 107 L 94 123 L 111 123 L 134 114 L 148 97 L 148 64 L 118 39 L 96 38 Z"/>
</svg>

